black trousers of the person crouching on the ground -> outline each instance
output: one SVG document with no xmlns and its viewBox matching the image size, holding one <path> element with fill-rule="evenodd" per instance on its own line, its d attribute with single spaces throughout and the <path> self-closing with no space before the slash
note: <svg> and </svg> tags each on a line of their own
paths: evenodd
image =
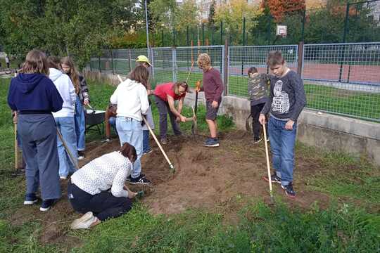
<svg viewBox="0 0 380 253">
<path fill-rule="evenodd" d="M 128 197 L 115 197 L 108 192 L 91 195 L 71 181 L 68 183 L 68 197 L 76 212 L 81 214 L 93 212 L 101 221 L 116 218 L 132 208 L 132 201 Z"/>
</svg>

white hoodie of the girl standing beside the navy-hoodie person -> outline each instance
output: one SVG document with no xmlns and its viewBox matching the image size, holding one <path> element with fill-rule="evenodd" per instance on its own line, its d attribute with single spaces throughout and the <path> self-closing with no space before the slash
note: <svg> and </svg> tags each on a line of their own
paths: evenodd
<svg viewBox="0 0 380 253">
<path fill-rule="evenodd" d="M 60 70 L 49 68 L 49 78 L 53 81 L 63 99 L 62 110 L 53 112 L 53 117 L 74 117 L 77 94 L 70 77 L 67 74 L 63 74 Z"/>
</svg>

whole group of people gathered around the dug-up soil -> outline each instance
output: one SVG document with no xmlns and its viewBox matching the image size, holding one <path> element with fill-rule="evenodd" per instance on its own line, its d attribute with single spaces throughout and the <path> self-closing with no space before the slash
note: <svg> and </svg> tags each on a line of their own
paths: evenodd
<svg viewBox="0 0 380 253">
<path fill-rule="evenodd" d="M 131 209 L 130 199 L 137 193 L 129 190 L 125 181 L 132 184 L 150 183 L 141 173 L 140 162 L 146 141 L 149 141 L 148 135 L 144 134 L 144 117 L 151 117 L 148 124 L 153 123 L 148 96 L 153 95 L 155 98 L 160 115 L 160 141 L 165 144 L 167 114 L 170 115 L 174 133 L 182 134 L 178 123 L 187 121 L 181 112 L 186 92 L 189 91 L 186 82 L 160 84 L 152 91 L 148 58 L 139 56 L 137 62 L 139 65 L 110 97 L 110 107 L 106 113 L 108 122 L 115 122 L 120 150 L 98 157 L 76 170 L 77 161 L 70 160 L 72 157 L 69 155 L 70 150 L 76 153 L 77 146 L 84 149 L 84 141 L 78 143 L 72 136 L 80 136 L 73 126 L 75 117 L 78 120 L 84 117 L 82 106 L 89 103 L 87 86 L 77 74 L 70 58 L 61 61 L 54 57 L 46 58 L 44 53 L 37 50 L 27 54 L 23 69 L 18 77 L 12 79 L 8 93 L 8 104 L 18 114 L 18 133 L 27 164 L 25 205 L 37 202 L 36 193 L 40 186 L 43 200 L 40 209 L 48 210 L 61 197 L 59 176 L 64 179 L 73 173 L 68 181 L 68 197 L 72 207 L 84 215 L 72 223 L 72 228 L 89 228 Z M 204 145 L 217 147 L 220 141 L 217 138 L 216 118 L 224 86 L 220 72 L 212 67 L 207 53 L 201 53 L 197 63 L 203 70 L 203 87 L 197 87 L 196 92 L 205 92 L 206 122 L 210 129 L 210 137 Z M 296 122 L 305 106 L 305 91 L 302 79 L 286 67 L 281 52 L 270 52 L 267 65 L 273 75 L 259 74 L 255 67 L 248 70 L 253 140 L 255 143 L 261 140 L 260 124 L 268 124 L 275 171 L 271 180 L 281 183 L 286 195 L 295 197 L 292 182 Z M 179 100 L 177 108 L 175 100 Z M 79 114 L 75 108 L 80 110 Z M 267 115 L 270 117 L 269 122 Z M 68 150 L 63 148 L 63 143 L 57 138 L 57 131 L 62 134 Z M 108 138 L 109 132 L 108 126 Z M 148 150 L 151 150 L 149 146 Z"/>
</svg>

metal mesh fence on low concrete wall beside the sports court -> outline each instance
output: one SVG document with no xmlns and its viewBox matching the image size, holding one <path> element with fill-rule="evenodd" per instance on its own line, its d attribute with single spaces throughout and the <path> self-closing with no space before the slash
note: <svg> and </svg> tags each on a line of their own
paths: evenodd
<svg viewBox="0 0 380 253">
<path fill-rule="evenodd" d="M 151 57 L 151 84 L 186 80 L 202 81 L 196 64 L 200 53 L 208 53 L 220 70 L 229 96 L 248 97 L 249 67 L 270 72 L 269 51 L 279 50 L 286 64 L 301 75 L 308 98 L 307 108 L 380 122 L 380 42 L 356 44 L 306 44 L 277 46 L 189 46 L 104 51 L 91 58 L 91 70 L 127 74 L 137 56 Z M 148 54 L 149 53 L 149 54 Z"/>
</svg>

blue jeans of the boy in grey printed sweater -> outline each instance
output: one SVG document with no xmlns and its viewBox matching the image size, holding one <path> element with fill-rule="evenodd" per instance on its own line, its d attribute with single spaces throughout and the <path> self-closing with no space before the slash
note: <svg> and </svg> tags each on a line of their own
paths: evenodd
<svg viewBox="0 0 380 253">
<path fill-rule="evenodd" d="M 285 124 L 286 121 L 274 117 L 270 117 L 268 123 L 273 168 L 281 178 L 282 186 L 293 181 L 294 145 L 297 133 L 296 123 L 293 124 L 293 130 L 286 130 Z"/>
</svg>

